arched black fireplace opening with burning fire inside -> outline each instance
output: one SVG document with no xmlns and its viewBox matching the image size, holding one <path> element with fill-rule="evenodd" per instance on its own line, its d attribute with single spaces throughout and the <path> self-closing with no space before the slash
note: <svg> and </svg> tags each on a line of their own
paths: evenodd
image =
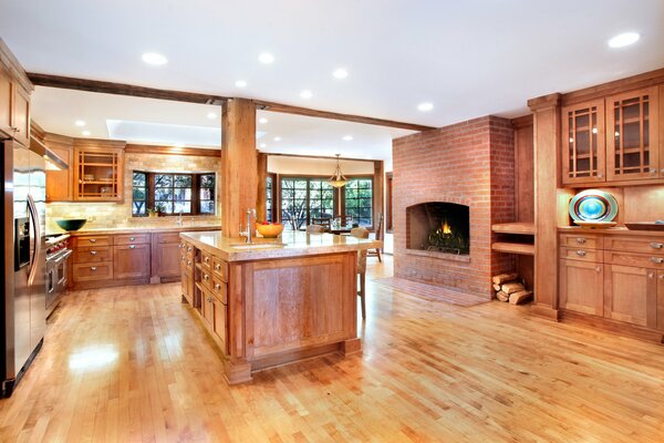
<svg viewBox="0 0 664 443">
<path fill-rule="evenodd" d="M 406 208 L 406 248 L 467 256 L 470 254 L 469 208 L 428 202 Z"/>
</svg>

